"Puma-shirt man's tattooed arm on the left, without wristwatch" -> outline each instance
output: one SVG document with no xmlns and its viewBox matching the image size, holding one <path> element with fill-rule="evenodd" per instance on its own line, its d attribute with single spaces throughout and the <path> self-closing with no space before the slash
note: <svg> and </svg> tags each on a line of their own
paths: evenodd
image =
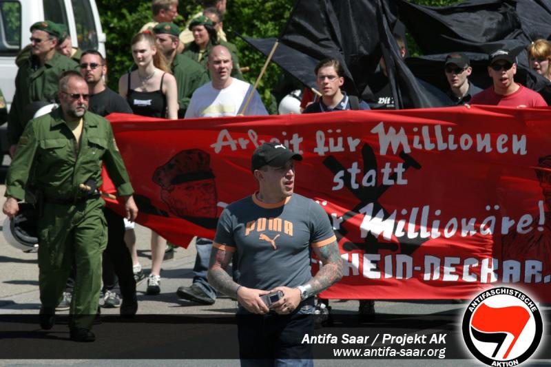
<svg viewBox="0 0 551 367">
<path fill-rule="evenodd" d="M 269 308 L 260 299 L 260 296 L 268 294 L 268 291 L 240 286 L 229 276 L 227 269 L 232 256 L 233 253 L 230 251 L 212 248 L 209 273 L 207 273 L 209 283 L 220 293 L 236 298 L 251 313 L 269 312 Z"/>
</svg>

